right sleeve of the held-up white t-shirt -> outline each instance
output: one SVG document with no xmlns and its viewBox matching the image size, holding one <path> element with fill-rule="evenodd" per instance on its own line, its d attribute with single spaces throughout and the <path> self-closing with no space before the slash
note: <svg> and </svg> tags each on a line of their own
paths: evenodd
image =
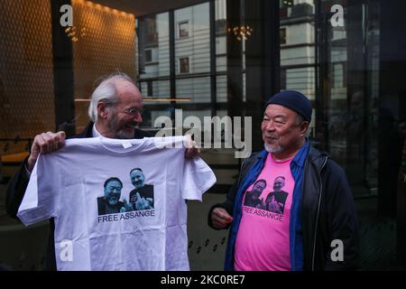
<svg viewBox="0 0 406 289">
<path fill-rule="evenodd" d="M 182 178 L 184 200 L 200 200 L 205 191 L 217 182 L 216 175 L 201 158 L 185 160 Z"/>
</svg>

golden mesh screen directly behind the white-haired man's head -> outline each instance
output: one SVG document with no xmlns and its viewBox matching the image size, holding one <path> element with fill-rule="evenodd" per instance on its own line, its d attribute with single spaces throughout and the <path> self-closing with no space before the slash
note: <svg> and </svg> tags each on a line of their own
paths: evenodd
<svg viewBox="0 0 406 289">
<path fill-rule="evenodd" d="M 73 42 L 75 98 L 90 98 L 97 79 L 115 71 L 135 78 L 135 19 L 88 1 L 74 0 Z M 76 101 L 76 124 L 80 132 L 88 124 L 88 102 Z"/>
</svg>

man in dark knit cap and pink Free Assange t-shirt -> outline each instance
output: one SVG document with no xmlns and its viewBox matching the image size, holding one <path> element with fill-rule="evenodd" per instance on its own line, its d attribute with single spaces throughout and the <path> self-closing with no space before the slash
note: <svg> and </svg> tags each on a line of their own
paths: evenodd
<svg viewBox="0 0 406 289">
<path fill-rule="evenodd" d="M 226 270 L 356 269 L 358 220 L 346 173 L 309 144 L 310 120 L 311 103 L 299 91 L 268 100 L 261 126 L 265 149 L 245 160 L 226 201 L 208 214 L 210 227 L 230 227 Z M 262 206 L 247 207 L 245 194 L 256 180 L 267 183 Z M 270 194 L 283 210 L 266 210 Z"/>
</svg>

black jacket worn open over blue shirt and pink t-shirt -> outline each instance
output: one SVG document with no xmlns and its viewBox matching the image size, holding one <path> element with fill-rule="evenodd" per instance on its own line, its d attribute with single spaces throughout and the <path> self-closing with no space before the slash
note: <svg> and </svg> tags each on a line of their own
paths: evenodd
<svg viewBox="0 0 406 289">
<path fill-rule="evenodd" d="M 241 167 L 237 181 L 227 194 L 226 201 L 214 205 L 211 213 L 224 208 L 233 215 L 235 193 L 245 175 L 257 161 L 259 153 L 252 154 Z M 355 270 L 359 262 L 359 222 L 355 203 L 346 180 L 346 173 L 328 154 L 310 146 L 303 172 L 301 221 L 303 228 L 303 270 Z M 331 242 L 343 241 L 344 261 L 334 262 Z"/>
</svg>

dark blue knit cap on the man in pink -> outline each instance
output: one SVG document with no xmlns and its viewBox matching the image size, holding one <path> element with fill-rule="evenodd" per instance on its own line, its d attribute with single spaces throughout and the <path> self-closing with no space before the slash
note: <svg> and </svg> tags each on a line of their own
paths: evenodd
<svg viewBox="0 0 406 289">
<path fill-rule="evenodd" d="M 266 107 L 271 104 L 288 107 L 300 114 L 300 116 L 303 117 L 304 120 L 308 122 L 310 122 L 311 120 L 311 102 L 309 98 L 306 98 L 299 91 L 281 91 L 280 93 L 277 93 L 269 98 L 268 102 L 266 103 Z"/>
</svg>

